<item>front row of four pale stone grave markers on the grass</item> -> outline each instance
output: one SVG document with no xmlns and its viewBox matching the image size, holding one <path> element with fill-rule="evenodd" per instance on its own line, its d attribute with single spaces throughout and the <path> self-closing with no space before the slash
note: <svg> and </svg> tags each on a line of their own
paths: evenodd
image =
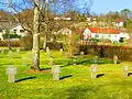
<svg viewBox="0 0 132 99">
<path fill-rule="evenodd" d="M 98 66 L 97 64 L 91 65 L 90 67 L 90 73 L 91 79 L 96 79 L 97 78 L 97 69 Z M 14 82 L 15 81 L 15 75 L 16 75 L 16 67 L 14 66 L 9 66 L 7 67 L 7 75 L 8 75 L 8 82 Z M 52 74 L 53 74 L 53 80 L 59 80 L 59 73 L 61 73 L 61 67 L 59 66 L 53 66 L 52 68 Z M 124 77 L 128 77 L 128 73 L 129 73 L 129 66 L 124 66 L 123 67 L 123 75 Z"/>
</svg>

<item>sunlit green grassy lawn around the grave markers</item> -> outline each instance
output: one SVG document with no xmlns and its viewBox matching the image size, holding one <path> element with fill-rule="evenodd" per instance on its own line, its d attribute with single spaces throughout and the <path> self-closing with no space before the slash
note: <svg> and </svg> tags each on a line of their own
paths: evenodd
<svg viewBox="0 0 132 99">
<path fill-rule="evenodd" d="M 30 70 L 30 53 L 18 54 L 13 50 L 12 58 L 7 52 L 0 54 L 0 99 L 132 99 L 132 76 L 123 77 L 123 65 L 129 65 L 131 73 L 131 62 L 114 65 L 110 59 L 100 58 L 98 78 L 90 79 L 92 56 L 85 56 L 77 59 L 77 65 L 72 65 L 72 59 L 59 52 L 51 52 L 54 63 L 61 66 L 61 80 L 55 81 L 46 53 L 41 51 L 41 73 Z M 9 65 L 18 69 L 14 84 L 7 82 Z"/>
</svg>

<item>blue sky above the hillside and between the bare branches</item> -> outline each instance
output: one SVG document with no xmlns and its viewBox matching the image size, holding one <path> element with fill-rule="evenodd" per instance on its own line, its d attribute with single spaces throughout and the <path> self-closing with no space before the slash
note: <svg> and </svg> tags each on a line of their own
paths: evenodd
<svg viewBox="0 0 132 99">
<path fill-rule="evenodd" d="M 0 0 L 3 2 L 7 2 L 7 0 Z M 11 0 L 12 2 L 18 2 L 20 3 L 19 6 L 21 6 L 21 1 L 22 0 Z M 90 7 L 90 2 L 89 0 L 69 0 L 72 3 L 75 3 L 76 7 L 75 9 L 79 12 L 87 12 L 87 6 Z M 68 2 L 69 2 L 68 1 Z M 107 13 L 109 11 L 121 11 L 123 9 L 130 9 L 132 10 L 132 0 L 91 0 L 92 1 L 92 6 L 90 7 L 91 9 L 91 13 Z M 68 3 L 68 6 L 70 6 L 72 3 Z M 7 9 L 7 6 L 1 6 L 0 8 L 2 9 Z M 64 10 L 66 9 L 65 6 L 61 7 L 57 6 L 57 9 L 55 9 L 55 12 L 59 13 L 63 12 L 64 10 L 61 9 L 64 8 Z"/>
</svg>

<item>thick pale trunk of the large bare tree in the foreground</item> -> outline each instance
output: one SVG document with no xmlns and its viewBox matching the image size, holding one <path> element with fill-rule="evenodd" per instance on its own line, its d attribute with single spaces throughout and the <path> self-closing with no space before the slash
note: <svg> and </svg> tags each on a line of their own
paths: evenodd
<svg viewBox="0 0 132 99">
<path fill-rule="evenodd" d="M 40 9 L 38 1 L 34 0 L 34 21 L 33 21 L 33 62 L 31 68 L 40 70 Z"/>
</svg>

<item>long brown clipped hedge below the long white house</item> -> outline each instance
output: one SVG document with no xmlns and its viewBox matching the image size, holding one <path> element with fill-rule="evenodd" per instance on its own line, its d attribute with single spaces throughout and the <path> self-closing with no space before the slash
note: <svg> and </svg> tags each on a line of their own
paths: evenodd
<svg viewBox="0 0 132 99">
<path fill-rule="evenodd" d="M 132 47 L 127 46 L 80 45 L 79 52 L 110 58 L 118 55 L 120 61 L 132 61 Z"/>
</svg>

